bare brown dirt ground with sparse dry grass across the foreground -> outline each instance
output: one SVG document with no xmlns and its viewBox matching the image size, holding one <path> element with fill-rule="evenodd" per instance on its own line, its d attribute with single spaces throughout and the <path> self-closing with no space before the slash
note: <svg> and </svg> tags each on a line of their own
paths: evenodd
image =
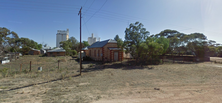
<svg viewBox="0 0 222 103">
<path fill-rule="evenodd" d="M 219 103 L 222 64 L 162 64 L 64 62 L 67 69 L 0 79 L 1 103 Z M 8 64 L 7 64 L 8 65 Z M 12 65 L 12 64 L 11 64 Z M 72 68 L 76 66 L 75 68 Z M 1 68 L 1 67 L 0 67 Z M 61 73 L 68 72 L 63 78 Z M 32 75 L 34 75 L 33 72 Z M 53 74 L 56 74 L 53 76 Z M 49 76 L 48 76 L 49 75 Z M 50 81 L 55 79 L 53 81 Z M 29 85 L 34 84 L 34 85 Z"/>
</svg>

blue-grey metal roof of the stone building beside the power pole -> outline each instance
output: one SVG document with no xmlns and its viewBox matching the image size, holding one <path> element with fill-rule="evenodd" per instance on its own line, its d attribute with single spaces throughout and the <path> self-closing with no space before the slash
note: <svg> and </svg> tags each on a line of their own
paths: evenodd
<svg viewBox="0 0 222 103">
<path fill-rule="evenodd" d="M 117 43 L 117 41 L 112 40 L 112 39 L 108 39 L 108 40 L 104 40 L 104 41 L 98 41 L 98 42 L 93 43 L 88 48 L 101 48 L 101 47 L 105 46 L 107 43 Z"/>
</svg>

